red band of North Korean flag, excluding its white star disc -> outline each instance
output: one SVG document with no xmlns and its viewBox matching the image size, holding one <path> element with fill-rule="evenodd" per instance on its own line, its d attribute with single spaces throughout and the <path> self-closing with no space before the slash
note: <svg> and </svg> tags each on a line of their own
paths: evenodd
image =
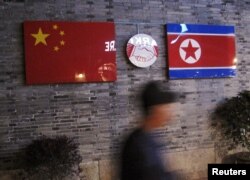
<svg viewBox="0 0 250 180">
<path fill-rule="evenodd" d="M 171 44 L 178 35 L 168 35 L 169 67 L 223 67 L 235 65 L 235 37 L 234 36 L 181 36 L 177 43 Z M 200 60 L 194 64 L 185 63 L 181 56 L 180 44 L 185 39 L 199 42 L 201 48 Z"/>
</svg>

